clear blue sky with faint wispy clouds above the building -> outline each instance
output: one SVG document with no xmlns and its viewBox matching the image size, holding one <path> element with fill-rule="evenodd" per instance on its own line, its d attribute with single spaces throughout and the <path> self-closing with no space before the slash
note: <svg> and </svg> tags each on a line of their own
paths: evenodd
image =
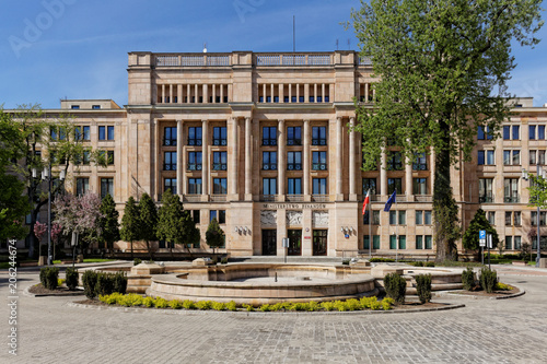
<svg viewBox="0 0 547 364">
<path fill-rule="evenodd" d="M 129 51 L 358 50 L 350 20 L 359 0 L 1 0 L 0 105 L 61 98 L 127 104 Z M 544 3 L 545 8 L 545 3 Z M 545 17 L 545 13 L 544 13 Z M 509 91 L 547 103 L 547 26 L 535 49 L 515 47 Z M 349 43 L 349 44 L 348 44 Z"/>
</svg>

